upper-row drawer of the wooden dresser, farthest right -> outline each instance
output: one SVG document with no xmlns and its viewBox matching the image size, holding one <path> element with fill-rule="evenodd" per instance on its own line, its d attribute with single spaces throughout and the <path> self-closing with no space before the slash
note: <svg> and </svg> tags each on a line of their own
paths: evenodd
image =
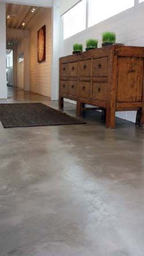
<svg viewBox="0 0 144 256">
<path fill-rule="evenodd" d="M 93 60 L 93 77 L 108 76 L 108 58 L 97 58 Z"/>
</svg>

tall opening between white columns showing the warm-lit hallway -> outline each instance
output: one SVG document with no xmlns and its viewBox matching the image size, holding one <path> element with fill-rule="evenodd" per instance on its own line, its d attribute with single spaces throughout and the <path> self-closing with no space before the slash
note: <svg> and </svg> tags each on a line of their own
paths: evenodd
<svg viewBox="0 0 144 256">
<path fill-rule="evenodd" d="M 44 39 L 38 36 L 43 28 Z M 51 97 L 52 8 L 7 3 L 6 48 L 13 50 L 13 82 L 7 85 Z"/>
</svg>

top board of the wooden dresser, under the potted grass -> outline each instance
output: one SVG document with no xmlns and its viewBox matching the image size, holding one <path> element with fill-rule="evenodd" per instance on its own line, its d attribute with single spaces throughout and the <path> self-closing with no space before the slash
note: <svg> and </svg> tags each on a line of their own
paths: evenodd
<svg viewBox="0 0 144 256">
<path fill-rule="evenodd" d="M 113 44 L 112 46 L 105 46 L 89 51 L 84 51 L 80 54 L 67 55 L 59 58 L 60 62 L 78 61 L 86 58 L 105 57 L 110 54 L 115 56 L 125 57 L 142 57 L 144 58 L 144 47 L 140 46 L 123 46 L 120 44 Z"/>
</svg>

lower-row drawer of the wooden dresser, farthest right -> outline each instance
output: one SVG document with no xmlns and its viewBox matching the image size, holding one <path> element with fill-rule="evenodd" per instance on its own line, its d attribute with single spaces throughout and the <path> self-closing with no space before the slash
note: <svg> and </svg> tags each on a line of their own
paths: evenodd
<svg viewBox="0 0 144 256">
<path fill-rule="evenodd" d="M 92 98 L 97 101 L 107 101 L 107 83 L 93 83 Z"/>
</svg>

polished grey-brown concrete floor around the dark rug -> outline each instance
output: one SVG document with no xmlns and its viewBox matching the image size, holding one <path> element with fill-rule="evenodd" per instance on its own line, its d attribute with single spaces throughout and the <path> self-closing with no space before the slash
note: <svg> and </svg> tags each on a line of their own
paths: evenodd
<svg viewBox="0 0 144 256">
<path fill-rule="evenodd" d="M 58 102 L 12 89 L 12 102 Z M 65 103 L 75 116 L 75 106 Z M 143 129 L 0 125 L 0 256 L 143 256 Z"/>
</svg>

